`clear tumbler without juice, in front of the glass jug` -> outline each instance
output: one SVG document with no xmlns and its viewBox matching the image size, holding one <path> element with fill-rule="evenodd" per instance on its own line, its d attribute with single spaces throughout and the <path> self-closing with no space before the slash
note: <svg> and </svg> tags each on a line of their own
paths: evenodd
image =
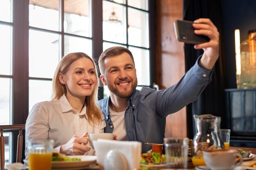
<svg viewBox="0 0 256 170">
<path fill-rule="evenodd" d="M 167 168 L 186 169 L 188 166 L 189 138 L 164 138 Z"/>
</svg>

